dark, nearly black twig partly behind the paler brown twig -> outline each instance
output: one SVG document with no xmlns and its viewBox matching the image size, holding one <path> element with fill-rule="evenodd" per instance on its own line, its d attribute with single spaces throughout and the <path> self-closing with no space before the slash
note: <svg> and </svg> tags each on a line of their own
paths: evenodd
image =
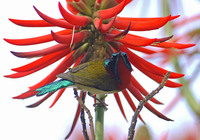
<svg viewBox="0 0 200 140">
<path fill-rule="evenodd" d="M 75 89 L 74 89 L 74 92 L 76 92 L 75 94 L 77 94 L 77 91 Z M 85 104 L 85 93 L 81 92 L 81 94 L 82 94 L 83 104 Z M 84 111 L 83 108 L 81 108 L 80 118 L 81 118 L 81 123 L 82 123 L 82 126 L 83 126 L 83 135 L 84 135 L 84 138 L 85 138 L 85 140 L 89 140 L 89 136 L 88 136 L 88 133 L 87 133 L 87 127 L 86 127 L 86 123 L 85 123 L 85 111 Z"/>
</svg>

